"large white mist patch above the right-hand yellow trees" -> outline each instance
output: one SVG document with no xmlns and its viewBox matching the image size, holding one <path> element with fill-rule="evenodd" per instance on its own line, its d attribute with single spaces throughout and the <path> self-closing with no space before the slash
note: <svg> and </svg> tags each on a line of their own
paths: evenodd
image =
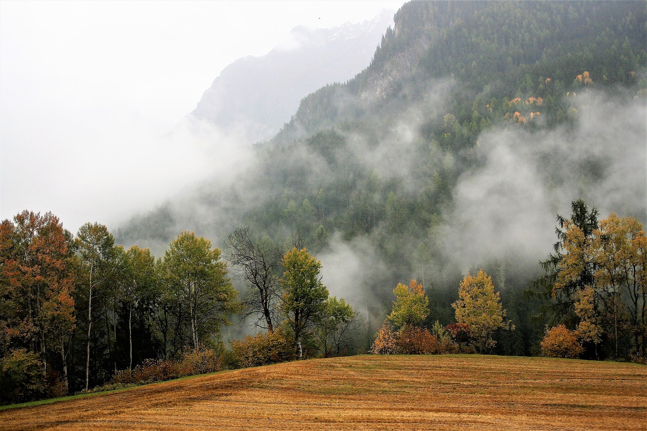
<svg viewBox="0 0 647 431">
<path fill-rule="evenodd" d="M 479 137 L 481 166 L 463 174 L 445 218 L 446 253 L 462 267 L 493 259 L 545 258 L 556 214 L 582 198 L 600 211 L 646 215 L 644 100 L 578 96 L 575 127 L 529 133 L 508 127 Z M 627 102 L 630 100 L 630 102 Z"/>
</svg>

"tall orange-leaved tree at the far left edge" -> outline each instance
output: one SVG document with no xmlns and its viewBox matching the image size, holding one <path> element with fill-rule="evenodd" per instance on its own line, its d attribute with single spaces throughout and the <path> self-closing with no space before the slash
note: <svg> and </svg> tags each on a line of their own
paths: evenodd
<svg viewBox="0 0 647 431">
<path fill-rule="evenodd" d="M 75 325 L 71 245 L 71 234 L 50 212 L 23 211 L 0 225 L 0 354 L 30 349 L 44 371 L 60 354 L 65 391 Z"/>
</svg>

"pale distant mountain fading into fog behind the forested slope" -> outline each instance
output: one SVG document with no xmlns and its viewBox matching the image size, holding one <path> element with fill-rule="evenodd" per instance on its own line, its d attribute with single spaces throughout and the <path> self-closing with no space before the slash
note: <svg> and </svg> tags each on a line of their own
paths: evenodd
<svg viewBox="0 0 647 431">
<path fill-rule="evenodd" d="M 190 117 L 206 120 L 247 144 L 266 140 L 290 120 L 306 94 L 346 82 L 371 60 L 394 11 L 363 23 L 311 30 L 296 27 L 267 55 L 247 56 L 223 69 Z"/>
</svg>

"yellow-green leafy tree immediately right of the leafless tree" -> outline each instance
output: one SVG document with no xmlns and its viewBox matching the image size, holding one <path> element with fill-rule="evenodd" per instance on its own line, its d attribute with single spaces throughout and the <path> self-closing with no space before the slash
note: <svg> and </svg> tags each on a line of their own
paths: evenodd
<svg viewBox="0 0 647 431">
<path fill-rule="evenodd" d="M 319 272 L 321 261 L 311 256 L 305 248 L 293 247 L 281 261 L 285 272 L 281 283 L 281 311 L 287 326 L 294 334 L 298 359 L 303 358 L 303 336 L 325 310 L 328 289 L 323 285 Z"/>
</svg>

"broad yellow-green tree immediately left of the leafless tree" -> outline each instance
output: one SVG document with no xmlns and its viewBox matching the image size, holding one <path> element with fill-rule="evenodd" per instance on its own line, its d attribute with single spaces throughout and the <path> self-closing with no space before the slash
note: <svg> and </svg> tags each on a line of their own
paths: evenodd
<svg viewBox="0 0 647 431">
<path fill-rule="evenodd" d="M 164 276 L 188 313 L 192 348 L 214 333 L 222 324 L 231 325 L 228 316 L 241 309 L 238 293 L 226 277 L 226 263 L 211 241 L 182 232 L 171 241 L 164 254 Z M 177 316 L 181 320 L 182 316 Z"/>
</svg>

